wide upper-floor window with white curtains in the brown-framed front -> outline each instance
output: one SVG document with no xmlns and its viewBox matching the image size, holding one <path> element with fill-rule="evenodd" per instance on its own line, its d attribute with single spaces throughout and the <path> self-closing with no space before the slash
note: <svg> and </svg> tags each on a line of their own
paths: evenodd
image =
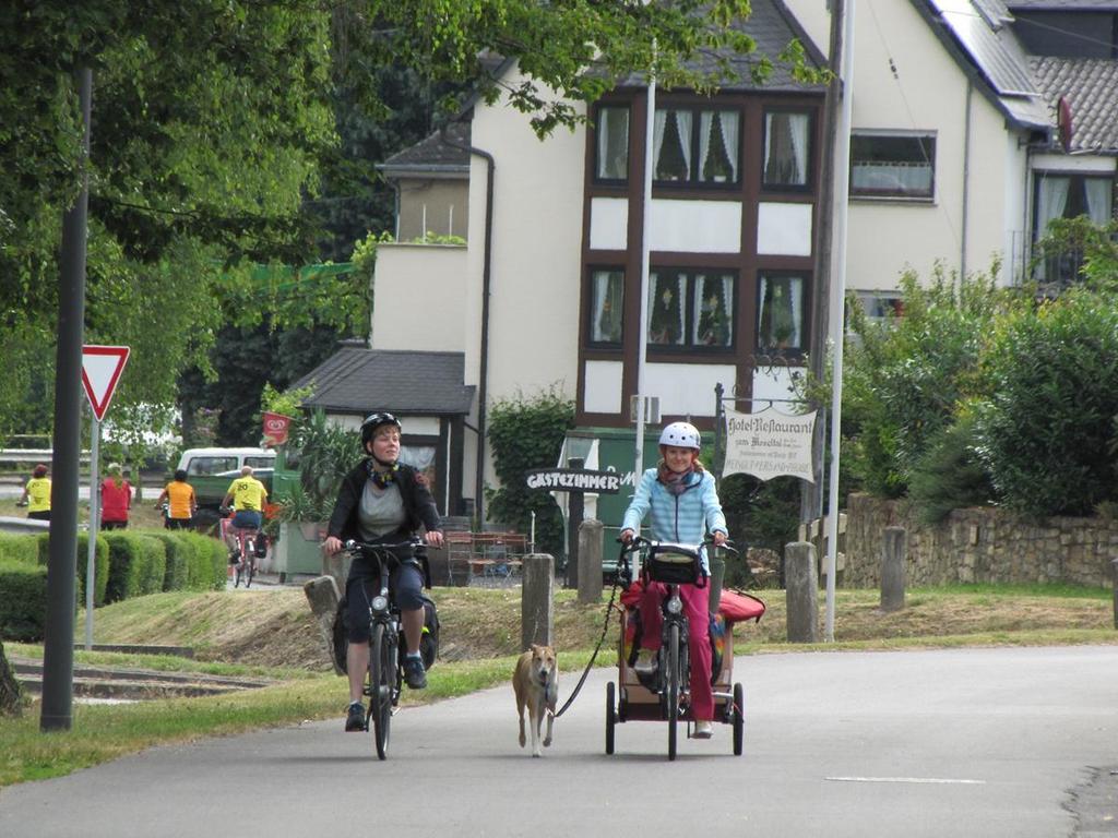
<svg viewBox="0 0 1118 838">
<path fill-rule="evenodd" d="M 737 183 L 737 111 L 656 108 L 653 122 L 655 179 L 675 183 Z"/>
</svg>

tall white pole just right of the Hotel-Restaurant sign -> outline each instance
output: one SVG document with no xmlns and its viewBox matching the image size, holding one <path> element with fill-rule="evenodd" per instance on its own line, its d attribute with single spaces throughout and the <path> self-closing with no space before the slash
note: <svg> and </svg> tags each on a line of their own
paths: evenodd
<svg viewBox="0 0 1118 838">
<path fill-rule="evenodd" d="M 850 128 L 854 94 L 854 0 L 843 9 L 842 109 L 835 143 L 835 270 L 831 296 L 831 340 L 834 342 L 834 381 L 831 392 L 831 487 L 827 499 L 826 642 L 835 639 L 835 566 L 839 551 L 839 445 L 842 430 L 842 354 L 846 299 L 846 215 L 850 208 Z"/>
</svg>

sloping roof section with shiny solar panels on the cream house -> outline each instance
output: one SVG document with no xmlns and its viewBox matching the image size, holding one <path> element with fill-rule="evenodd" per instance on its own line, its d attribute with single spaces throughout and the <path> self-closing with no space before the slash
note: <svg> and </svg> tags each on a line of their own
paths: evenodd
<svg viewBox="0 0 1118 838">
<path fill-rule="evenodd" d="M 1013 17 L 1003 0 L 912 0 L 912 4 L 1012 124 L 1030 131 L 1052 128 L 1027 56 L 1007 26 Z"/>
</svg>

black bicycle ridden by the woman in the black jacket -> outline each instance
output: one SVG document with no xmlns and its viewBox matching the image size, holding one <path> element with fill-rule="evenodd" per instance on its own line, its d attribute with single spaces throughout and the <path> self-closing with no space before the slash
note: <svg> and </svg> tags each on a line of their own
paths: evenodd
<svg viewBox="0 0 1118 838">
<path fill-rule="evenodd" d="M 369 598 L 369 673 L 366 677 L 364 694 L 369 696 L 366 714 L 366 730 L 371 727 L 377 743 L 377 756 L 388 759 L 388 737 L 392 714 L 400 703 L 404 684 L 404 629 L 400 622 L 400 607 L 392 596 L 389 579 L 392 571 L 404 562 L 420 564 L 424 547 L 419 539 L 409 539 L 397 544 L 368 544 L 347 541 L 345 549 L 354 555 L 363 555 L 375 562 L 380 570 L 380 587 Z M 400 554 L 406 554 L 401 559 Z M 420 568 L 421 570 L 421 568 Z"/>
</svg>

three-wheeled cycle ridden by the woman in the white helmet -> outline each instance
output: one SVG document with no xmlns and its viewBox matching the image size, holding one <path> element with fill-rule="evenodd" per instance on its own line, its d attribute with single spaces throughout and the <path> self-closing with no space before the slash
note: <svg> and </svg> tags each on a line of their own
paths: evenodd
<svg viewBox="0 0 1118 838">
<path fill-rule="evenodd" d="M 691 736 L 694 717 L 691 713 L 691 663 L 688 650 L 688 617 L 680 599 L 681 584 L 708 585 L 703 572 L 702 551 L 711 542 L 699 545 L 657 542 L 635 537 L 623 544 L 618 556 L 618 578 L 626 589 L 622 602 L 631 608 L 622 609 L 622 630 L 618 648 L 617 685 L 606 684 L 606 753 L 614 752 L 615 726 L 629 721 L 654 721 L 667 723 L 667 759 L 674 760 L 678 744 L 678 727 L 686 724 Z M 733 550 L 723 545 L 724 549 Z M 736 551 L 733 551 L 736 552 Z M 633 563 L 639 564 L 637 581 L 634 581 Z M 651 582 L 663 582 L 667 593 L 663 598 L 663 628 L 661 647 L 657 653 L 655 675 L 637 675 L 633 667 L 636 657 L 633 620 L 637 617 L 632 606 L 638 600 L 638 589 Z M 764 603 L 756 617 L 764 612 Z M 712 610 L 717 610 L 716 608 Z M 733 684 L 733 637 L 732 631 L 723 635 L 724 647 L 721 660 L 716 658 L 718 672 L 711 674 L 714 694 L 714 720 L 729 724 L 733 730 L 733 753 L 740 755 L 745 736 L 745 691 L 741 684 Z"/>
</svg>

